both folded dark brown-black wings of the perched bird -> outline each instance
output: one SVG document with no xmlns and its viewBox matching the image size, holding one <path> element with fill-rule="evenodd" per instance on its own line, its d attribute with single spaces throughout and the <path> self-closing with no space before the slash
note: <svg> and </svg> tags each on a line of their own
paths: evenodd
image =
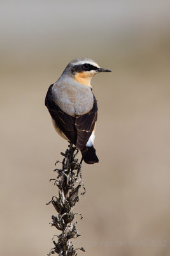
<svg viewBox="0 0 170 256">
<path fill-rule="evenodd" d="M 94 97 L 94 105 L 89 113 L 82 116 L 67 115 L 53 102 L 52 86 L 53 84 L 46 93 L 45 106 L 68 140 L 82 150 L 85 148 L 97 120 L 97 100 Z"/>
</svg>

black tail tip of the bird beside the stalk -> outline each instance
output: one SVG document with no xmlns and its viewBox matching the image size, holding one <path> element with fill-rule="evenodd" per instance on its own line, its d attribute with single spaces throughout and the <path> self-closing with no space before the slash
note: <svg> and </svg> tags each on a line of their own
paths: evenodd
<svg viewBox="0 0 170 256">
<path fill-rule="evenodd" d="M 96 149 L 93 146 L 85 147 L 83 150 L 81 150 L 81 154 L 82 154 L 83 160 L 87 164 L 95 164 L 99 162 L 99 159 L 96 156 Z"/>
</svg>

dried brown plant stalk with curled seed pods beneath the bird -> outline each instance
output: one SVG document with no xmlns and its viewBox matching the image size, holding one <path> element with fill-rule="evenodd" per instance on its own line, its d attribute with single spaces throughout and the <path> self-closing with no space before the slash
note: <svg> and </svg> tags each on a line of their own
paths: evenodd
<svg viewBox="0 0 170 256">
<path fill-rule="evenodd" d="M 58 253 L 60 256 L 76 256 L 76 250 L 78 249 L 85 252 L 82 247 L 74 249 L 70 241 L 70 239 L 80 236 L 80 233 L 76 230 L 76 222 L 74 222 L 74 216 L 80 213 L 73 212 L 74 205 L 79 200 L 79 189 L 83 186 L 81 179 L 82 159 L 80 163 L 78 163 L 78 159 L 76 159 L 77 154 L 78 150 L 70 143 L 66 152 L 61 153 L 61 155 L 64 156 L 61 163 L 62 169 L 54 170 L 58 173 L 57 179 L 51 179 L 55 180 L 54 185 L 59 188 L 59 196 L 53 196 L 52 200 L 48 203 L 52 203 L 58 213 L 57 216 L 52 216 L 52 222 L 50 222 L 50 224 L 62 233 L 59 236 L 54 236 L 57 237 L 57 242 L 53 239 L 55 247 L 50 250 L 48 255 Z M 57 161 L 57 163 L 60 162 Z M 81 195 L 84 193 L 85 191 L 81 193 Z"/>
</svg>

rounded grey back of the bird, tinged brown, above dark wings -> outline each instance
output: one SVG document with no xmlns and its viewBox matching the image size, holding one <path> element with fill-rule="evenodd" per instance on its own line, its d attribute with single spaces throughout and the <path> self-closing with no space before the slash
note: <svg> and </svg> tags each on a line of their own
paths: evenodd
<svg viewBox="0 0 170 256">
<path fill-rule="evenodd" d="M 71 116 L 88 113 L 94 104 L 91 89 L 80 83 L 55 83 L 52 95 L 55 104 Z"/>
</svg>

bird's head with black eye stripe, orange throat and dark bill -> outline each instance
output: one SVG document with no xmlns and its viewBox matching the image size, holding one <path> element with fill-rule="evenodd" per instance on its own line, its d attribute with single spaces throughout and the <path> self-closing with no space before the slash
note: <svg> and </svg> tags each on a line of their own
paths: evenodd
<svg viewBox="0 0 170 256">
<path fill-rule="evenodd" d="M 88 58 L 77 58 L 71 61 L 64 71 L 78 83 L 90 87 L 90 81 L 94 75 L 99 72 L 111 72 L 109 69 L 99 67 L 95 61 Z"/>
</svg>

